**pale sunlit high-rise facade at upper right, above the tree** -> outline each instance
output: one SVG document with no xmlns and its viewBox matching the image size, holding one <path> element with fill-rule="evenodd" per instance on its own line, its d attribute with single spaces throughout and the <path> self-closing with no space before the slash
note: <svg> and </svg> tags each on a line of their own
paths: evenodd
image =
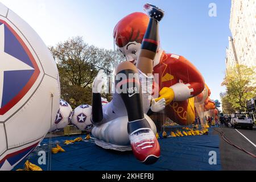
<svg viewBox="0 0 256 182">
<path fill-rule="evenodd" d="M 232 38 L 229 38 L 231 47 L 227 49 L 227 66 L 237 61 L 256 67 L 256 0 L 232 0 L 229 27 Z"/>
</svg>

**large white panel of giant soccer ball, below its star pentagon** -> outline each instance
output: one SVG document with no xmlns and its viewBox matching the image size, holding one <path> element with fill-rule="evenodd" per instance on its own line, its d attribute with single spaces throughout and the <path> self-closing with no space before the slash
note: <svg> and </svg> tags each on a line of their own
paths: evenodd
<svg viewBox="0 0 256 182">
<path fill-rule="evenodd" d="M 55 122 L 59 100 L 57 80 L 45 76 L 30 101 L 5 122 L 8 147 L 20 146 L 44 137 L 51 127 L 51 119 Z"/>
</svg>

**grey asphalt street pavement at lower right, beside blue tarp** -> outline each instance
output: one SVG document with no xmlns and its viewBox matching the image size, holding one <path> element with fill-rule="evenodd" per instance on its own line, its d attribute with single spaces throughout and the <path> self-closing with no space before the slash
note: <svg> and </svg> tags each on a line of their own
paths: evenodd
<svg viewBox="0 0 256 182">
<path fill-rule="evenodd" d="M 255 130 L 243 130 L 237 129 L 241 134 L 243 134 L 247 139 L 249 139 L 252 143 L 250 143 L 246 138 L 244 138 L 240 133 L 238 133 L 235 129 L 230 128 L 216 128 L 217 131 L 223 131 L 225 133 L 226 138 L 228 138 L 231 142 L 244 148 L 245 150 L 256 155 L 256 131 Z M 217 131 L 214 131 L 213 134 L 220 135 Z M 221 137 L 221 135 L 220 135 Z M 256 159 L 245 152 L 238 150 L 238 148 L 228 144 L 225 142 L 222 137 L 220 138 L 220 154 L 221 154 L 221 166 L 222 170 L 230 171 L 230 170 L 249 170 L 256 171 Z"/>
</svg>

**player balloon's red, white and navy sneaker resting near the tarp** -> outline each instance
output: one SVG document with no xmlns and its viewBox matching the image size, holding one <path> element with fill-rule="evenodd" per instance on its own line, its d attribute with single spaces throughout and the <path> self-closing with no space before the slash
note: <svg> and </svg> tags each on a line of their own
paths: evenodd
<svg viewBox="0 0 256 182">
<path fill-rule="evenodd" d="M 129 135 L 135 158 L 144 164 L 154 164 L 160 157 L 158 139 L 151 129 L 142 128 Z"/>
</svg>

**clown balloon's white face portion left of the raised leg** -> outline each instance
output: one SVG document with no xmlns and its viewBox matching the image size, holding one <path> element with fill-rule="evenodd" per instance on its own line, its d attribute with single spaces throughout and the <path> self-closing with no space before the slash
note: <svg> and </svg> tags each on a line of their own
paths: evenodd
<svg viewBox="0 0 256 182">
<path fill-rule="evenodd" d="M 119 51 L 134 65 L 137 63 L 139 51 L 141 51 L 141 44 L 137 42 L 129 42 L 123 47 L 119 47 Z"/>
</svg>

